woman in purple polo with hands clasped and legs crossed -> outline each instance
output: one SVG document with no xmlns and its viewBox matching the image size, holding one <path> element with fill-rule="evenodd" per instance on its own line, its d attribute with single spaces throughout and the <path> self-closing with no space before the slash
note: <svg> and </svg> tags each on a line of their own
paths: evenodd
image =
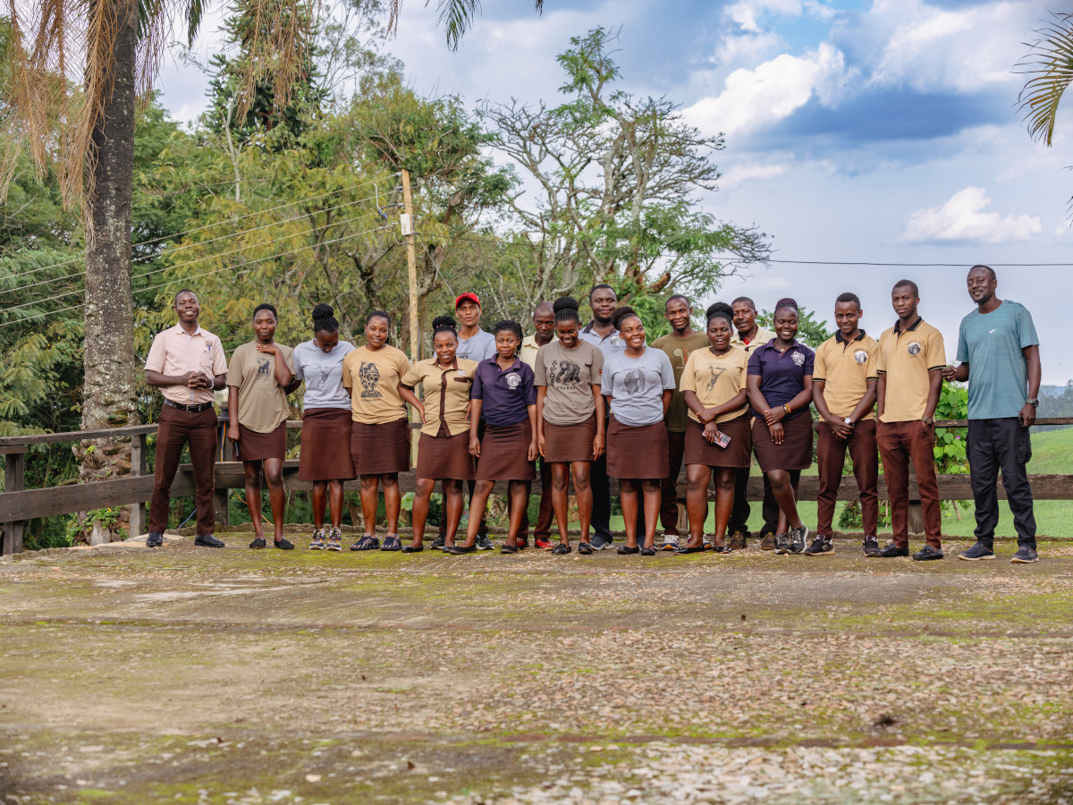
<svg viewBox="0 0 1073 805">
<path fill-rule="evenodd" d="M 815 353 L 797 337 L 797 303 L 775 306 L 775 338 L 749 356 L 749 402 L 755 423 L 752 449 L 779 504 L 777 554 L 805 550 L 808 529 L 797 514 L 797 484 L 812 464 L 812 363 Z M 788 533 L 789 529 L 789 533 Z"/>
</svg>

